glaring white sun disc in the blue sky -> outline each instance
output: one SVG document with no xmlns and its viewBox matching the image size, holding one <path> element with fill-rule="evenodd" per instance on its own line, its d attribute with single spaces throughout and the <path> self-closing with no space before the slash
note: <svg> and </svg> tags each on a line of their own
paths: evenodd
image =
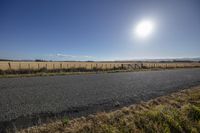
<svg viewBox="0 0 200 133">
<path fill-rule="evenodd" d="M 135 34 L 139 38 L 147 38 L 154 30 L 154 23 L 150 20 L 144 20 L 138 23 L 135 28 Z"/>
</svg>

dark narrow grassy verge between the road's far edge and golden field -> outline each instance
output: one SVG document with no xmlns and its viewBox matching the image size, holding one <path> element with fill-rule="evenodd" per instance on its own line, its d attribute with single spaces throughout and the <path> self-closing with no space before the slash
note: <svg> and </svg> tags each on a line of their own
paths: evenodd
<svg viewBox="0 0 200 133">
<path fill-rule="evenodd" d="M 39 70 L 0 70 L 0 78 L 17 78 L 17 77 L 36 77 L 36 76 L 57 76 L 57 75 L 80 75 L 80 74 L 96 74 L 96 73 L 117 73 L 117 72 L 138 72 L 138 71 L 159 71 L 170 69 L 185 69 L 185 68 L 141 68 L 134 70 L 127 70 L 122 68 L 115 69 L 96 69 L 91 70 L 85 68 L 72 69 L 55 69 L 47 70 L 42 68 Z"/>
</svg>

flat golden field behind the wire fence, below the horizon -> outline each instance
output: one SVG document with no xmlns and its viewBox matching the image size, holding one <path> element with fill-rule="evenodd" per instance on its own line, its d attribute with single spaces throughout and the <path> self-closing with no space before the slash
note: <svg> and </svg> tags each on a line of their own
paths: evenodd
<svg viewBox="0 0 200 133">
<path fill-rule="evenodd" d="M 142 65 L 142 66 L 141 66 Z M 200 67 L 200 63 L 158 63 L 158 62 L 8 62 L 0 61 L 0 70 L 38 70 L 41 68 L 51 69 L 70 69 L 70 68 L 85 68 L 85 69 L 113 69 L 113 68 L 187 68 Z"/>
</svg>

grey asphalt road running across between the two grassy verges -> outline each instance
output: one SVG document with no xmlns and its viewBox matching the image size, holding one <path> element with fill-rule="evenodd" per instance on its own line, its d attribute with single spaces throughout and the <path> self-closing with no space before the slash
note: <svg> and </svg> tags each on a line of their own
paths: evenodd
<svg viewBox="0 0 200 133">
<path fill-rule="evenodd" d="M 0 126 L 80 116 L 200 84 L 200 69 L 0 79 Z M 37 122 L 36 122 L 37 121 Z"/>
</svg>

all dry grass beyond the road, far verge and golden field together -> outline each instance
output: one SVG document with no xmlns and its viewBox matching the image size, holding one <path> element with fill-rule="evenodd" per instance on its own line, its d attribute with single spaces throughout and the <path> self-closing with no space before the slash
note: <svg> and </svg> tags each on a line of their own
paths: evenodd
<svg viewBox="0 0 200 133">
<path fill-rule="evenodd" d="M 131 64 L 131 65 L 130 65 Z M 141 62 L 8 62 L 0 61 L 0 78 L 71 75 L 94 72 L 123 72 L 196 68 L 200 63 L 141 63 Z M 81 72 L 81 73 L 80 73 Z"/>
</svg>

